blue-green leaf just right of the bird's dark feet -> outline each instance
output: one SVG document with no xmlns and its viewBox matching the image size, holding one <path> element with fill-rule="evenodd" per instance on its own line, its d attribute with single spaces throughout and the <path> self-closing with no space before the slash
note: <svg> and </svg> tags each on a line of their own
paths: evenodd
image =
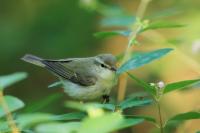
<svg viewBox="0 0 200 133">
<path fill-rule="evenodd" d="M 141 107 L 149 105 L 152 103 L 151 99 L 138 99 L 138 98 L 128 98 L 119 104 L 119 107 L 124 110 L 131 107 Z"/>
</svg>

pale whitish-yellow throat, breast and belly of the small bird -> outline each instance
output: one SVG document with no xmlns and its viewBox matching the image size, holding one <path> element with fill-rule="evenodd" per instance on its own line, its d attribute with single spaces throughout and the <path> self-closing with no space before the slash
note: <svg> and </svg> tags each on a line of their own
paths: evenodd
<svg viewBox="0 0 200 133">
<path fill-rule="evenodd" d="M 102 95 L 108 95 L 111 89 L 116 85 L 117 78 L 113 73 L 106 72 L 106 74 L 107 75 L 105 75 L 105 73 L 100 75 L 96 84 L 92 86 L 81 86 L 79 84 L 65 80 L 63 81 L 64 91 L 70 97 L 79 100 L 97 99 Z"/>
</svg>

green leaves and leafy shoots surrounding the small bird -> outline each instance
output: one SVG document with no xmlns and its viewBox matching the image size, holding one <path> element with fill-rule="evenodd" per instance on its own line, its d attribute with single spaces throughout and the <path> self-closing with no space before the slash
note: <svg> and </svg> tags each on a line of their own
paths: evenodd
<svg viewBox="0 0 200 133">
<path fill-rule="evenodd" d="M 101 27 L 113 29 L 97 32 L 94 34 L 95 37 L 106 38 L 118 35 L 128 39 L 127 50 L 123 54 L 120 54 L 122 55 L 122 60 L 119 63 L 117 76 L 127 74 L 144 89 L 145 93 L 137 93 L 126 97 L 122 101 L 114 101 L 106 104 L 67 101 L 65 102 L 66 108 L 78 111 L 66 111 L 64 114 L 44 113 L 40 112 L 40 110 L 46 106 L 50 106 L 50 103 L 58 99 L 60 95 L 55 94 L 40 99 L 37 103 L 33 103 L 32 106 L 26 108 L 20 99 L 4 95 L 4 91 L 5 88 L 25 79 L 27 74 L 19 72 L 0 76 L 0 132 L 110 133 L 147 121 L 158 127 L 161 133 L 163 133 L 164 129 L 167 129 L 174 121 L 182 122 L 185 120 L 200 119 L 200 112 L 190 111 L 177 114 L 163 122 L 160 111 L 160 99 L 163 95 L 198 83 L 200 79 L 179 81 L 161 86 L 155 83 L 147 83 L 130 72 L 166 56 L 173 50 L 172 48 L 159 48 L 148 52 L 140 52 L 137 55 L 132 54 L 132 46 L 139 41 L 138 36 L 149 30 L 178 28 L 184 25 L 166 21 L 149 23 L 149 20 L 145 20 L 141 16 L 127 15 L 121 8 L 110 8 L 98 0 L 89 1 L 89 3 L 81 0 L 80 5 L 105 16 L 100 22 Z M 61 86 L 62 83 L 58 81 L 48 87 Z M 151 104 L 157 106 L 160 117 L 159 121 L 154 116 L 127 113 L 127 110 L 143 108 Z M 24 107 L 25 111 L 18 112 L 19 109 Z"/>
</svg>

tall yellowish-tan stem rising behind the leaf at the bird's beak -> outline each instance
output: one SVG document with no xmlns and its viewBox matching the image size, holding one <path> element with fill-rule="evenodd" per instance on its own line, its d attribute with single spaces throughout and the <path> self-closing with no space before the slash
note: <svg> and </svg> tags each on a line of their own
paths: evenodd
<svg viewBox="0 0 200 133">
<path fill-rule="evenodd" d="M 138 18 L 140 18 L 140 19 L 143 18 L 144 12 L 145 12 L 145 10 L 148 6 L 148 3 L 150 1 L 151 0 L 141 0 L 139 8 L 137 10 L 137 15 L 136 15 Z M 127 45 L 123 60 L 120 63 L 120 65 L 122 65 L 123 63 L 125 63 L 129 59 L 129 57 L 131 55 L 132 41 L 136 40 L 137 34 L 141 30 L 141 28 L 142 28 L 142 25 L 139 25 L 136 28 L 136 30 L 134 32 L 132 32 L 132 34 L 128 38 L 128 45 Z M 126 93 L 126 87 L 127 87 L 127 79 L 128 79 L 128 77 L 127 77 L 126 74 L 122 74 L 119 78 L 119 90 L 118 90 L 118 101 L 119 102 L 124 100 L 125 93 Z"/>
</svg>

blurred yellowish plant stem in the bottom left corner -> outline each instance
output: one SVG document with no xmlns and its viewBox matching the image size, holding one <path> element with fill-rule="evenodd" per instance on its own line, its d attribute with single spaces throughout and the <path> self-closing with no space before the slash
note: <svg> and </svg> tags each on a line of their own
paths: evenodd
<svg viewBox="0 0 200 133">
<path fill-rule="evenodd" d="M 11 128 L 12 133 L 20 133 L 20 131 L 19 131 L 18 127 L 16 126 L 15 121 L 12 117 L 12 114 L 9 111 L 9 107 L 8 107 L 4 97 L 3 97 L 2 91 L 0 91 L 0 105 L 2 106 L 3 110 L 6 113 L 6 119 L 8 121 L 10 128 Z"/>
</svg>

